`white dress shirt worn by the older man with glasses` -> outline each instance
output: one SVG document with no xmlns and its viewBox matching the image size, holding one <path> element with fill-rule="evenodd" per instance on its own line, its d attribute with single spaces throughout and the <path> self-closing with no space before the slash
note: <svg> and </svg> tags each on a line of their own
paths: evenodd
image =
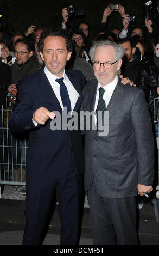
<svg viewBox="0 0 159 256">
<path fill-rule="evenodd" d="M 98 86 L 97 86 L 97 94 L 96 94 L 96 101 L 95 101 L 95 106 L 94 106 L 94 111 L 96 111 L 97 109 L 97 105 L 98 105 L 98 100 L 99 100 L 99 88 L 102 87 L 105 92 L 103 94 L 103 100 L 105 101 L 105 107 L 107 108 L 107 105 L 109 104 L 109 101 L 111 99 L 111 96 L 113 94 L 113 91 L 116 88 L 118 82 L 118 76 L 116 76 L 116 78 L 109 84 L 107 84 L 106 86 L 101 86 L 101 84 L 98 82 Z M 96 115 L 95 115 L 95 123 L 97 121 L 96 119 Z"/>
</svg>

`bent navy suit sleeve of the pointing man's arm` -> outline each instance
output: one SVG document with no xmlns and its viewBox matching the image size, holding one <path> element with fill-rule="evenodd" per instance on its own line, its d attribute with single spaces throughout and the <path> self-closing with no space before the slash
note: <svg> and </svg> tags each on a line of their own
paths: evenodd
<svg viewBox="0 0 159 256">
<path fill-rule="evenodd" d="M 16 104 L 8 120 L 8 126 L 12 132 L 23 132 L 35 128 L 32 121 L 35 109 L 33 109 L 30 87 L 24 81 L 17 83 Z"/>
</svg>

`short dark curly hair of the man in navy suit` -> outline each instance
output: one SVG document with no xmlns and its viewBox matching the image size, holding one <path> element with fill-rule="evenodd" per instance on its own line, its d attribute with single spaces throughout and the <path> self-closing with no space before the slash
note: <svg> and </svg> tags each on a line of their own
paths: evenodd
<svg viewBox="0 0 159 256">
<path fill-rule="evenodd" d="M 68 52 L 73 51 L 72 42 L 68 35 L 66 35 L 62 29 L 44 29 L 44 31 L 41 33 L 39 43 L 37 44 L 37 48 L 40 52 L 43 52 L 44 47 L 44 39 L 46 39 L 48 36 L 60 36 L 65 39 L 65 44 Z"/>
</svg>

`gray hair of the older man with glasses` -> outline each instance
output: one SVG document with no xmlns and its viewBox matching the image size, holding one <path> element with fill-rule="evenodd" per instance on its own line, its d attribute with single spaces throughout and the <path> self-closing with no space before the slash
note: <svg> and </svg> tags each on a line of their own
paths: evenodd
<svg viewBox="0 0 159 256">
<path fill-rule="evenodd" d="M 94 53 L 97 49 L 97 47 L 106 47 L 106 46 L 112 46 L 115 49 L 116 57 L 117 59 L 122 59 L 125 55 L 123 47 L 120 47 L 116 42 L 113 42 L 111 40 L 101 40 L 101 41 L 93 41 L 93 45 L 90 49 L 90 58 L 92 62 L 94 62 Z M 118 71 L 118 75 L 120 75 L 120 70 Z"/>
</svg>

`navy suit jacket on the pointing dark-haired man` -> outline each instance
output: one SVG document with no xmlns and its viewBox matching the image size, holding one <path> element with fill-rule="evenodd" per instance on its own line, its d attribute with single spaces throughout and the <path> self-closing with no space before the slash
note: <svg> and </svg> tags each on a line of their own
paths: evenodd
<svg viewBox="0 0 159 256">
<path fill-rule="evenodd" d="M 67 71 L 66 75 L 79 93 L 74 111 L 79 111 L 82 102 L 82 89 L 86 80 L 79 70 Z M 12 132 L 30 131 L 27 152 L 26 174 L 30 178 L 62 178 L 69 172 L 71 152 L 78 174 L 84 173 L 83 141 L 79 130 L 51 130 L 48 119 L 44 125 L 33 124 L 34 111 L 39 107 L 49 111 L 62 109 L 43 69 L 17 84 L 17 100 L 8 125 Z"/>
</svg>

